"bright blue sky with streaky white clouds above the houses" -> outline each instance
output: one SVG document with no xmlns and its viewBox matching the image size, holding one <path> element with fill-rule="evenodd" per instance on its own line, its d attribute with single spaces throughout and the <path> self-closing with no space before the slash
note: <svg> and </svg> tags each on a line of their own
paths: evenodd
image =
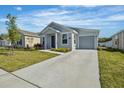
<svg viewBox="0 0 124 93">
<path fill-rule="evenodd" d="M 20 29 L 40 32 L 50 22 L 63 25 L 100 30 L 100 37 L 124 29 L 124 6 L 51 6 L 51 5 L 3 5 L 0 6 L 0 33 L 6 33 L 6 15 L 17 17 Z"/>
</svg>

